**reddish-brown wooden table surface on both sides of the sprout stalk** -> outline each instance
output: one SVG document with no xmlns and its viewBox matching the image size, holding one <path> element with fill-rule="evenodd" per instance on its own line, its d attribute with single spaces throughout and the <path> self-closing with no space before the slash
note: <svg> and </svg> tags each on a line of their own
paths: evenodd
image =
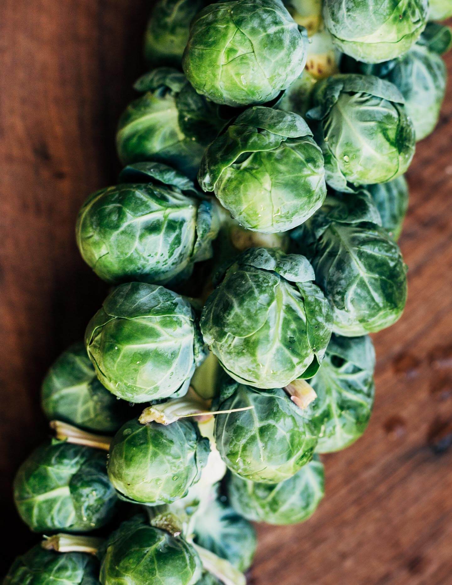
<svg viewBox="0 0 452 585">
<path fill-rule="evenodd" d="M 40 380 L 105 295 L 78 255 L 74 222 L 89 192 L 115 181 L 115 124 L 143 71 L 150 4 L 0 2 L 3 570 L 34 538 L 13 509 L 11 481 L 46 434 Z M 451 54 L 447 62 L 451 70 Z M 312 519 L 258 529 L 254 585 L 452 583 L 451 98 L 450 86 L 408 174 L 409 301 L 375 335 L 371 424 L 325 457 L 327 495 Z"/>
</svg>

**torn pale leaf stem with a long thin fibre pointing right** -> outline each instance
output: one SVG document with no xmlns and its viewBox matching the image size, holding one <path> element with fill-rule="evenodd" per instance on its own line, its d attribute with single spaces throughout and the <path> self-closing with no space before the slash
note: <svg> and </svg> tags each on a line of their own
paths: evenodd
<svg viewBox="0 0 452 585">
<path fill-rule="evenodd" d="M 189 387 L 187 394 L 182 398 L 169 400 L 164 404 L 154 404 L 145 408 L 139 417 L 139 422 L 146 425 L 148 422 L 158 422 L 160 425 L 170 425 L 180 418 L 212 417 L 214 414 L 229 414 L 229 412 L 241 412 L 250 410 L 252 406 L 245 408 L 234 408 L 232 410 L 211 411 L 211 400 L 203 400 L 192 387 Z"/>
</svg>

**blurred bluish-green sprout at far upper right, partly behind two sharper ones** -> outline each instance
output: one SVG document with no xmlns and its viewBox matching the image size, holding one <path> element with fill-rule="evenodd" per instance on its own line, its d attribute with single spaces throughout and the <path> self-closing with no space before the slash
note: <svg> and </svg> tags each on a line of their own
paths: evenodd
<svg viewBox="0 0 452 585">
<path fill-rule="evenodd" d="M 405 112 L 413 123 L 416 140 L 433 132 L 446 94 L 446 65 L 439 54 L 415 44 L 398 59 L 373 66 L 354 61 L 347 67 L 377 75 L 398 88 L 405 100 Z"/>
</svg>

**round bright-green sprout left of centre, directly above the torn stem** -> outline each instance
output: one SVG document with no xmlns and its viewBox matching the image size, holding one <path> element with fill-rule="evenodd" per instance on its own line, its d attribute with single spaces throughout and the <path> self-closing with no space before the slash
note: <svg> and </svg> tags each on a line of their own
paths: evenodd
<svg viewBox="0 0 452 585">
<path fill-rule="evenodd" d="M 102 384 L 133 402 L 185 394 L 205 357 L 189 302 L 145 283 L 113 290 L 89 322 L 85 345 Z"/>
</svg>

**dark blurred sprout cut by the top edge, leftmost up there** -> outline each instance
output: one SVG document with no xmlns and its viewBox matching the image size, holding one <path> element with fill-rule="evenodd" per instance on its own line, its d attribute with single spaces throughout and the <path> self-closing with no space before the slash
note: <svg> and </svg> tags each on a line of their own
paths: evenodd
<svg viewBox="0 0 452 585">
<path fill-rule="evenodd" d="M 155 65 L 180 67 L 190 22 L 209 0 L 158 0 L 147 23 L 144 56 Z"/>
</svg>

